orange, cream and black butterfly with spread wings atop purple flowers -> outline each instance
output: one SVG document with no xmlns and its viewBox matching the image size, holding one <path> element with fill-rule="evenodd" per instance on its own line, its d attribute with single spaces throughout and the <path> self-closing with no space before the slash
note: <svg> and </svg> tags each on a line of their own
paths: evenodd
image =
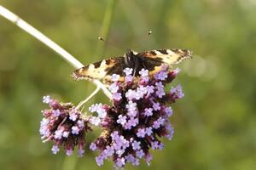
<svg viewBox="0 0 256 170">
<path fill-rule="evenodd" d="M 102 80 L 104 83 L 112 82 L 113 74 L 119 75 L 119 82 L 124 82 L 124 69 L 133 69 L 134 77 L 139 77 L 139 71 L 148 70 L 149 76 L 161 70 L 162 65 L 178 64 L 183 59 L 192 57 L 188 49 L 159 49 L 137 53 L 128 49 L 124 56 L 103 59 L 96 63 L 86 65 L 73 71 L 76 80 Z"/>
</svg>

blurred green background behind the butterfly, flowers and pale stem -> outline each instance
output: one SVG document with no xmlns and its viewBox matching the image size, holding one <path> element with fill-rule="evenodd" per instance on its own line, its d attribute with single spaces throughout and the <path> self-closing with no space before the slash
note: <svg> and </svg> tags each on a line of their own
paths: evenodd
<svg viewBox="0 0 256 170">
<path fill-rule="evenodd" d="M 173 84 L 185 97 L 174 104 L 175 135 L 153 151 L 151 167 L 127 169 L 256 168 L 256 0 L 1 0 L 84 64 L 127 48 L 189 48 Z M 111 14 L 113 15 L 111 16 Z M 105 21 L 103 21 L 105 20 Z M 109 22 L 108 22 L 109 21 Z M 148 31 L 153 33 L 148 37 Z M 108 36 L 108 42 L 97 37 Z M 57 156 L 38 128 L 42 96 L 80 100 L 94 90 L 75 82 L 73 67 L 35 38 L 0 18 L 1 169 L 97 169 L 95 154 Z M 108 103 L 102 93 L 88 103 Z M 88 142 L 96 138 L 90 133 Z M 113 169 L 105 161 L 102 169 Z"/>
</svg>

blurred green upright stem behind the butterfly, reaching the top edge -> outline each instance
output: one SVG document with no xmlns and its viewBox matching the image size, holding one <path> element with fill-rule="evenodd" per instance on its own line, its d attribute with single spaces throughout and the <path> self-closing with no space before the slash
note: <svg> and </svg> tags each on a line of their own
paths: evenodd
<svg viewBox="0 0 256 170">
<path fill-rule="evenodd" d="M 110 25 L 111 22 L 113 20 L 113 12 L 114 12 L 114 8 L 116 5 L 117 0 L 109 0 L 108 3 L 108 7 L 106 9 L 105 15 L 104 15 L 104 20 L 102 23 L 102 29 L 101 29 L 101 37 L 104 39 L 104 41 L 99 41 L 97 44 L 97 50 L 96 50 L 96 54 L 97 56 L 102 56 L 105 52 L 105 48 L 106 48 L 106 42 L 108 39 L 108 33 L 110 30 Z"/>
</svg>

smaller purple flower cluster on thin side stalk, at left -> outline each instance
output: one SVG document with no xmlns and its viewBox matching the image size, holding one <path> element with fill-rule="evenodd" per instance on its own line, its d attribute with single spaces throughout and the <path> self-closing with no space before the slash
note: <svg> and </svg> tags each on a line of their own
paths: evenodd
<svg viewBox="0 0 256 170">
<path fill-rule="evenodd" d="M 60 103 L 49 96 L 44 96 L 43 102 L 49 105 L 49 110 L 42 111 L 44 118 L 40 123 L 43 142 L 54 142 L 51 149 L 54 154 L 63 145 L 67 156 L 71 156 L 78 145 L 79 156 L 83 156 L 85 134 L 91 129 L 89 121 L 71 103 Z"/>
</svg>

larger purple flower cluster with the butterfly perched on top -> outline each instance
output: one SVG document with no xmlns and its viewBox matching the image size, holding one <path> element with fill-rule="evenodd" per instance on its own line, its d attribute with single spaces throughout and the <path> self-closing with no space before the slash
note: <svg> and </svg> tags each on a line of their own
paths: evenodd
<svg viewBox="0 0 256 170">
<path fill-rule="evenodd" d="M 168 71 L 166 65 L 161 71 L 149 75 L 148 70 L 139 71 L 140 77 L 132 76 L 132 69 L 126 68 L 125 82 L 118 82 L 119 75 L 113 75 L 109 90 L 113 94 L 113 105 L 92 105 L 90 122 L 102 126 L 102 135 L 90 144 L 90 150 L 100 150 L 96 156 L 98 166 L 112 158 L 116 167 L 126 163 L 138 166 L 140 159 L 148 164 L 152 159 L 149 149 L 162 150 L 161 137 L 172 139 L 173 127 L 169 121 L 172 104 L 183 97 L 181 86 L 165 91 L 166 83 L 172 82 L 178 69 Z"/>
</svg>

